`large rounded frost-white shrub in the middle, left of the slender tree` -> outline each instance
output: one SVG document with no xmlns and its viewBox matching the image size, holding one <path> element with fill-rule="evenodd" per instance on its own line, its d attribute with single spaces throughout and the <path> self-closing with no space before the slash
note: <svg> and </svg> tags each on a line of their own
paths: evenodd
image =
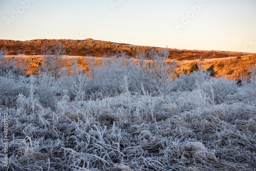
<svg viewBox="0 0 256 171">
<path fill-rule="evenodd" d="M 143 62 L 144 60 L 145 59 L 143 59 Z M 169 89 L 166 87 L 167 80 L 170 82 L 172 81 L 165 78 L 164 81 L 159 84 L 159 87 L 157 82 L 153 81 L 156 79 L 153 78 L 153 73 L 150 71 L 150 68 L 147 66 L 146 62 L 143 63 L 143 65 L 140 65 L 140 63 L 138 64 L 138 61 L 124 58 L 124 56 L 113 56 L 105 59 L 102 61 L 100 66 L 94 69 L 94 73 L 94 77 L 90 77 L 88 79 L 88 86 L 92 86 L 90 89 L 92 92 L 100 91 L 104 96 L 120 94 L 123 92 L 125 86 L 132 94 L 152 94 L 153 92 L 160 93 L 163 91 L 160 88 L 163 83 L 165 84 L 167 92 L 169 91 Z M 91 84 L 92 79 L 94 84 Z M 125 82 L 127 83 L 126 85 Z"/>
</svg>

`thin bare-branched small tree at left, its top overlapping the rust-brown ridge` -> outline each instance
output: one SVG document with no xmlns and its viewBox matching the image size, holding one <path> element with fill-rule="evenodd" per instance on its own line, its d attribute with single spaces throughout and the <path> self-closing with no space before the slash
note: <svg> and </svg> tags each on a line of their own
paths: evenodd
<svg viewBox="0 0 256 171">
<path fill-rule="evenodd" d="M 65 61 L 63 58 L 65 54 L 64 45 L 57 44 L 56 42 L 50 46 L 45 44 L 41 48 L 41 53 L 44 55 L 41 71 L 44 73 L 50 72 L 54 79 L 59 78 L 63 62 Z"/>
</svg>

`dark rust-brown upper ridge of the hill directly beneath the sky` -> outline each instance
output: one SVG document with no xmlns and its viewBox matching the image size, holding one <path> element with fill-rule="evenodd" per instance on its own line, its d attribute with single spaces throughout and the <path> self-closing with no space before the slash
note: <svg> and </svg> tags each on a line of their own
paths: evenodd
<svg viewBox="0 0 256 171">
<path fill-rule="evenodd" d="M 41 46 L 44 44 L 52 44 L 53 42 L 65 45 L 66 55 L 75 56 L 97 56 L 115 55 L 125 53 L 128 56 L 135 57 L 137 52 L 143 50 L 148 51 L 152 48 L 156 50 L 164 49 L 149 46 L 136 46 L 131 44 L 123 44 L 110 41 L 101 41 L 87 38 L 84 40 L 71 39 L 35 39 L 35 40 L 0 40 L 0 49 L 7 50 L 8 55 L 15 55 L 17 50 L 25 51 L 26 55 L 40 55 Z M 232 56 L 243 56 L 250 53 L 243 52 L 225 52 L 225 51 L 200 51 L 200 50 L 178 50 L 170 49 L 170 58 L 177 60 L 191 60 L 202 58 L 222 58 Z"/>
</svg>

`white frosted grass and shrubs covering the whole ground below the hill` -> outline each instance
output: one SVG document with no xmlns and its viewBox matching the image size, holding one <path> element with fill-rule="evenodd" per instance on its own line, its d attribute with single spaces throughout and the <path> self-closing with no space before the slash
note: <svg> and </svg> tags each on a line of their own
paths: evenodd
<svg viewBox="0 0 256 171">
<path fill-rule="evenodd" d="M 54 51 L 29 77 L 0 51 L 1 170 L 256 168 L 255 67 L 240 84 L 203 71 L 175 78 L 168 52 L 151 51 L 60 70 Z"/>
</svg>

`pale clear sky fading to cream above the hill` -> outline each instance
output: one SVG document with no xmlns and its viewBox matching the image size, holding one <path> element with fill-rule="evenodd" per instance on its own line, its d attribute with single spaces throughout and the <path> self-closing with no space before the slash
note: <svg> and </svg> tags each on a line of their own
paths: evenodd
<svg viewBox="0 0 256 171">
<path fill-rule="evenodd" d="M 256 53 L 256 0 L 0 0 L 0 39 Z"/>
</svg>

